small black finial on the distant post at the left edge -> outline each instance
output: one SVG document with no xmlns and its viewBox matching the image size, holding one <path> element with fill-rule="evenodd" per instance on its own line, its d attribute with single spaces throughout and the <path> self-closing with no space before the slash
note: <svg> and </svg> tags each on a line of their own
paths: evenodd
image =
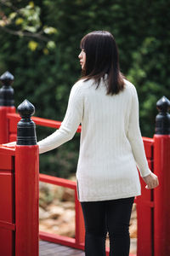
<svg viewBox="0 0 170 256">
<path fill-rule="evenodd" d="M 14 76 L 8 71 L 0 77 L 3 87 L 0 89 L 0 106 L 14 106 L 14 89 L 10 86 Z"/>
</svg>

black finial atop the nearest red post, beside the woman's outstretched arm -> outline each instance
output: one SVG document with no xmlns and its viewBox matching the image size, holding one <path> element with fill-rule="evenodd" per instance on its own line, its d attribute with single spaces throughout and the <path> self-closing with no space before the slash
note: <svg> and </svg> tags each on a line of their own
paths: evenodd
<svg viewBox="0 0 170 256">
<path fill-rule="evenodd" d="M 17 108 L 20 113 L 20 122 L 17 125 L 17 145 L 36 145 L 36 125 L 31 120 L 35 108 L 31 102 L 25 100 Z"/>
</svg>

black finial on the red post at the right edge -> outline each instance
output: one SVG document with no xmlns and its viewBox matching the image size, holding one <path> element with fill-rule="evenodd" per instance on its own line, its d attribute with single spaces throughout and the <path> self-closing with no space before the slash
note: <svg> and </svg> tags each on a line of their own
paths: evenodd
<svg viewBox="0 0 170 256">
<path fill-rule="evenodd" d="M 156 134 L 170 134 L 170 114 L 168 113 L 170 101 L 166 96 L 162 96 L 156 103 L 156 108 L 159 111 L 156 115 Z"/>
</svg>

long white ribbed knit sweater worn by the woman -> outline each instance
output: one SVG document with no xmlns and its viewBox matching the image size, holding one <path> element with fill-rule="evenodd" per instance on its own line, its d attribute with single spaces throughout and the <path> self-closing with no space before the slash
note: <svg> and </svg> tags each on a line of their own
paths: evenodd
<svg viewBox="0 0 170 256">
<path fill-rule="evenodd" d="M 106 95 L 102 79 L 73 85 L 59 130 L 38 143 L 40 154 L 71 140 L 82 124 L 77 164 L 79 201 L 104 201 L 141 195 L 141 177 L 150 174 L 139 129 L 139 101 L 133 84 Z M 139 172 L 136 165 L 139 167 Z"/>
</svg>

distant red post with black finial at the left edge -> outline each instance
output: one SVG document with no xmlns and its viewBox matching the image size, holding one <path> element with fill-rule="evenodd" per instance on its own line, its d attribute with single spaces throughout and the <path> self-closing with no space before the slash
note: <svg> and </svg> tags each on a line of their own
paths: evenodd
<svg viewBox="0 0 170 256">
<path fill-rule="evenodd" d="M 14 90 L 10 84 L 14 81 L 11 73 L 3 73 L 0 78 L 3 87 L 0 90 L 0 143 L 9 142 L 7 113 L 15 113 Z"/>
</svg>

